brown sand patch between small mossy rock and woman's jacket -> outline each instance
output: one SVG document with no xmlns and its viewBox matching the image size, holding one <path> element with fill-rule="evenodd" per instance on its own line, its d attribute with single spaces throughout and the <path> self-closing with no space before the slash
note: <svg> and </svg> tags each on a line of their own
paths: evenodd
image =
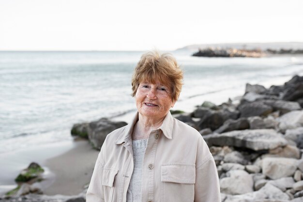
<svg viewBox="0 0 303 202">
<path fill-rule="evenodd" d="M 90 182 L 99 151 L 87 140 L 78 140 L 75 144 L 71 150 L 46 160 L 45 166 L 55 173 L 44 191 L 46 195 L 76 195 Z"/>
</svg>

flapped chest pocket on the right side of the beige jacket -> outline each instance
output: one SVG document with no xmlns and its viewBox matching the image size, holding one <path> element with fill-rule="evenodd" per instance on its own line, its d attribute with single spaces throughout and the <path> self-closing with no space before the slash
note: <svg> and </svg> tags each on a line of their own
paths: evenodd
<svg viewBox="0 0 303 202">
<path fill-rule="evenodd" d="M 193 202 L 195 198 L 196 165 L 164 163 L 161 166 L 161 202 Z"/>
</svg>

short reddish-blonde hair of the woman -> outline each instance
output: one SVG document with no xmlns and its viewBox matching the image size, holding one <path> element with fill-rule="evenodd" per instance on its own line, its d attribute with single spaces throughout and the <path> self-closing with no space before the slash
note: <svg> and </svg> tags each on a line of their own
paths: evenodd
<svg viewBox="0 0 303 202">
<path fill-rule="evenodd" d="M 143 54 L 136 65 L 132 77 L 132 96 L 136 95 L 141 82 L 155 83 L 156 80 L 170 87 L 171 99 L 176 102 L 182 89 L 183 72 L 171 54 L 154 50 Z"/>
</svg>

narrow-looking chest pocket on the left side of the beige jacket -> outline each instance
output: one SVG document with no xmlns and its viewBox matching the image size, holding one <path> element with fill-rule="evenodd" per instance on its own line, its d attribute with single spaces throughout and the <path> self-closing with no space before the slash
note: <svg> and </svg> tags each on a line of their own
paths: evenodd
<svg viewBox="0 0 303 202">
<path fill-rule="evenodd" d="M 104 199 L 106 202 L 113 201 L 115 182 L 119 170 L 111 167 L 104 167 L 102 174 L 102 185 L 104 189 Z"/>
</svg>

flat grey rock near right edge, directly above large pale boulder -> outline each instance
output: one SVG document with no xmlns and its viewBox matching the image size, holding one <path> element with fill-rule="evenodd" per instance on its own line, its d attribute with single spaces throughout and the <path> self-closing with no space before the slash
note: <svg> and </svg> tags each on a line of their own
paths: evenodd
<svg viewBox="0 0 303 202">
<path fill-rule="evenodd" d="M 301 109 L 300 104 L 296 101 L 264 100 L 263 103 L 273 107 L 273 111 L 279 110 L 281 114 Z"/>
</svg>

